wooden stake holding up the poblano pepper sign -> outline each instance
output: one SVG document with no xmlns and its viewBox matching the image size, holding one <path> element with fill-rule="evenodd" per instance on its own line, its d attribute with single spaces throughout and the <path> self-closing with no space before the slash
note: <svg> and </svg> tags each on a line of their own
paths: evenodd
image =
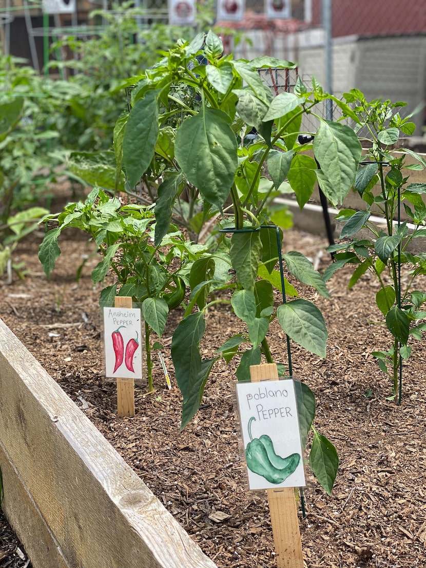
<svg viewBox="0 0 426 568">
<path fill-rule="evenodd" d="M 252 383 L 278 381 L 275 363 L 250 366 Z M 268 489 L 269 512 L 278 568 L 303 568 L 302 541 L 293 487 Z"/>
</svg>

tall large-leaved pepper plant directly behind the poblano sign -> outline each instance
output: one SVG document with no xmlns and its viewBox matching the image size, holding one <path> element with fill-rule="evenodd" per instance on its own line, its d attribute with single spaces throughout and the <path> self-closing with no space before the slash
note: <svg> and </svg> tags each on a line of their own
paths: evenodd
<svg viewBox="0 0 426 568">
<path fill-rule="evenodd" d="M 291 339 L 325 357 L 327 328 L 323 316 L 315 304 L 297 297 L 296 289 L 284 278 L 282 260 L 300 282 L 326 297 L 328 291 L 321 275 L 302 254 L 293 251 L 281 257 L 282 230 L 278 225 L 285 224 L 286 212 L 276 209 L 273 198 L 287 179 L 303 207 L 319 178 L 329 200 L 338 203 L 352 186 L 361 157 L 361 144 L 352 128 L 320 115 L 316 115 L 319 128 L 314 143 L 298 144 L 302 116 L 315 114 L 318 104 L 327 98 L 359 122 L 346 103 L 324 93 L 316 80 L 312 80 L 310 89 L 298 80 L 293 93 L 274 98 L 258 69 L 294 68 L 293 64 L 272 57 L 234 60 L 222 52 L 218 36 L 212 32 L 199 34 L 190 43 L 179 41 L 151 69 L 127 82 L 133 85 L 131 110 L 116 123 L 116 173 L 107 181 L 108 189 L 124 189 L 136 199 L 135 187 L 142 181 L 141 200 L 153 199 L 156 252 L 151 258 L 163 254 L 161 248 L 175 230 L 172 223 L 184 223 L 195 240 L 201 239 L 208 227 L 205 248 L 194 258 L 191 249 L 185 247 L 183 254 L 190 257 L 189 262 L 185 270 L 179 270 L 189 288 L 171 349 L 183 395 L 182 427 L 197 412 L 208 375 L 219 357 L 227 362 L 237 359 L 240 381 L 249 380 L 250 365 L 282 358 L 282 353 L 271 352 L 268 343 L 268 333 L 276 321 L 288 345 Z M 253 129 L 256 135 L 248 136 Z M 96 157 L 73 155 L 81 177 L 93 180 L 93 170 L 87 167 L 89 160 L 95 164 Z M 53 241 L 55 233 L 48 232 L 40 249 L 45 270 L 52 266 L 46 251 Z M 108 250 L 105 230 L 99 232 L 97 243 Z M 99 273 L 102 277 L 120 247 L 116 242 L 114 246 L 105 256 Z M 116 274 L 118 281 L 120 277 L 121 273 Z M 132 290 L 135 283 L 127 284 L 123 285 L 125 295 L 137 299 Z M 123 286 L 119 294 L 124 293 Z M 277 300 L 277 291 L 282 293 L 282 302 Z M 114 293 L 111 290 L 110 301 Z M 286 301 L 288 296 L 293 299 Z M 200 344 L 206 313 L 218 303 L 228 304 L 245 331 L 232 335 L 218 346 L 214 356 L 203 359 Z M 152 303 L 152 308 L 149 318 L 160 318 L 160 303 Z M 290 360 L 288 363 L 282 374 L 292 374 Z M 306 385 L 301 392 L 306 438 L 315 414 L 315 399 Z M 311 465 L 321 485 L 330 492 L 338 458 L 334 446 L 315 430 Z"/>
</svg>

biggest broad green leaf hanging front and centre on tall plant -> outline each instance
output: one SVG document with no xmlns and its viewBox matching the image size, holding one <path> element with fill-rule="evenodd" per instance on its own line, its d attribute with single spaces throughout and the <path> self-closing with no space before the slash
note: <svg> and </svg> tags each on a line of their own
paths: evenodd
<svg viewBox="0 0 426 568">
<path fill-rule="evenodd" d="M 202 106 L 176 134 L 175 154 L 186 178 L 205 199 L 222 209 L 238 166 L 237 140 L 228 116 Z"/>
</svg>

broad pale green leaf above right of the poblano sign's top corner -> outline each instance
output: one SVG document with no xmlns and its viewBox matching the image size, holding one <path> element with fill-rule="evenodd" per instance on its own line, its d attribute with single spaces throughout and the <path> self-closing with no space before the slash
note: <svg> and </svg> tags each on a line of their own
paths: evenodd
<svg viewBox="0 0 426 568">
<path fill-rule="evenodd" d="M 291 300 L 277 309 L 279 325 L 297 344 L 325 357 L 327 347 L 327 327 L 319 309 L 303 299 Z"/>
</svg>

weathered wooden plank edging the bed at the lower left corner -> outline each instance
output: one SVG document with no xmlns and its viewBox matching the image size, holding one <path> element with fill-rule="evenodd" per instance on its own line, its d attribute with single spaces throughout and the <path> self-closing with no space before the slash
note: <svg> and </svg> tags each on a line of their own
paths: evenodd
<svg viewBox="0 0 426 568">
<path fill-rule="evenodd" d="M 215 568 L 0 320 L 3 510 L 34 568 Z"/>
</svg>

